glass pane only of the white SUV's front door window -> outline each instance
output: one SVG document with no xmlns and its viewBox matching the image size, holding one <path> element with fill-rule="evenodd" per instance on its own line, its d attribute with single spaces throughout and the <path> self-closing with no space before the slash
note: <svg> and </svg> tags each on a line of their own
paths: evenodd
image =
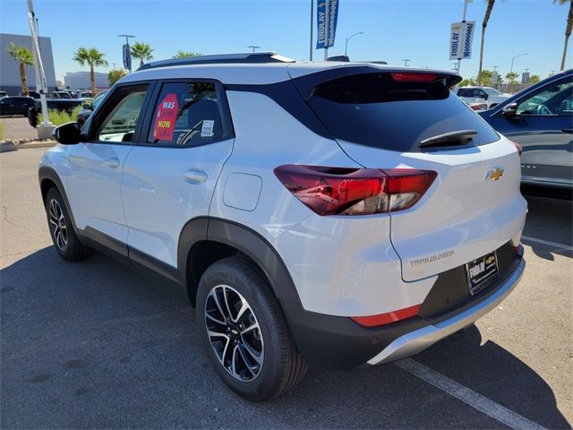
<svg viewBox="0 0 573 430">
<path fill-rule="evenodd" d="M 146 94 L 146 90 L 137 90 L 125 95 L 100 126 L 97 140 L 132 142 Z"/>
</svg>

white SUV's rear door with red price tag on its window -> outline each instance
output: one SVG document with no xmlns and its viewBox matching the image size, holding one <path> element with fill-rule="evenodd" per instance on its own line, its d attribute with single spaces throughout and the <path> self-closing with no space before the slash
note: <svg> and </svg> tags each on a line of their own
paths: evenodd
<svg viewBox="0 0 573 430">
<path fill-rule="evenodd" d="M 142 142 L 125 160 L 122 199 L 130 258 L 177 266 L 185 223 L 209 215 L 213 190 L 234 142 L 222 85 L 158 82 Z"/>
</svg>

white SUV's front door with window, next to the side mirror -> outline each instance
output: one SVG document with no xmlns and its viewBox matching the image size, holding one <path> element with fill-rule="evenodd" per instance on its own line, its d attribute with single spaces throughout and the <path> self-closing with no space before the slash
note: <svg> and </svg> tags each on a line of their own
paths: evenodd
<svg viewBox="0 0 573 430">
<path fill-rule="evenodd" d="M 91 118 L 86 142 L 69 158 L 69 193 L 77 228 L 127 254 L 121 198 L 124 161 L 134 148 L 148 84 L 120 86 Z"/>
</svg>

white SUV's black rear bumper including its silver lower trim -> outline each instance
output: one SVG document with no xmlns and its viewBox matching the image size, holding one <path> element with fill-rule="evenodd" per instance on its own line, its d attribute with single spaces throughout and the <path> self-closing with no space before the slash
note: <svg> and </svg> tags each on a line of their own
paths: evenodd
<svg viewBox="0 0 573 430">
<path fill-rule="evenodd" d="M 419 314 L 381 327 L 363 327 L 347 317 L 316 314 L 290 303 L 282 305 L 296 345 L 309 366 L 348 371 L 414 355 L 474 323 L 516 288 L 525 266 L 520 248 L 502 276 L 474 297 L 448 310 L 432 305 L 431 315 Z M 438 292 L 442 296 L 447 290 Z"/>
</svg>

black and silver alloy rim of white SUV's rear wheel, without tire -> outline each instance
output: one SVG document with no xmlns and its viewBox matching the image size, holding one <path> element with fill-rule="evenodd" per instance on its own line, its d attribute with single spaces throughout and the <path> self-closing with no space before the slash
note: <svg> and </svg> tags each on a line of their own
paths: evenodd
<svg viewBox="0 0 573 430">
<path fill-rule="evenodd" d="M 218 285 L 205 302 L 207 336 L 218 362 L 236 380 L 261 374 L 264 344 L 252 307 L 235 288 Z"/>
</svg>

